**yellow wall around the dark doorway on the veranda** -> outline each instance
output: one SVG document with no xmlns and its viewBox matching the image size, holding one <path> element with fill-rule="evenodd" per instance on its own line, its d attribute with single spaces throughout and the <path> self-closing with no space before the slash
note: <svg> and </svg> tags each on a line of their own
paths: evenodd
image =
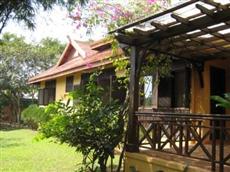
<svg viewBox="0 0 230 172">
<path fill-rule="evenodd" d="M 226 92 L 230 92 L 230 59 L 211 60 L 204 65 L 203 79 L 204 88 L 200 87 L 197 72 L 192 71 L 192 92 L 191 92 L 191 111 L 193 113 L 210 113 L 210 66 L 219 67 L 226 71 Z M 230 111 L 226 111 L 230 114 Z"/>
</svg>

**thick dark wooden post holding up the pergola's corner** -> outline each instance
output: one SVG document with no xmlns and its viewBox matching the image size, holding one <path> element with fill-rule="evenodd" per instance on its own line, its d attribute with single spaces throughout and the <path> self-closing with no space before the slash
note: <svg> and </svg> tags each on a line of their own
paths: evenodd
<svg viewBox="0 0 230 172">
<path fill-rule="evenodd" d="M 130 86 L 129 86 L 129 118 L 128 118 L 128 152 L 138 152 L 138 137 L 139 130 L 137 124 L 137 116 L 135 112 L 138 110 L 138 94 L 139 94 L 139 72 L 138 65 L 140 67 L 139 61 L 139 51 L 137 47 L 131 47 L 131 57 L 130 57 Z"/>
</svg>

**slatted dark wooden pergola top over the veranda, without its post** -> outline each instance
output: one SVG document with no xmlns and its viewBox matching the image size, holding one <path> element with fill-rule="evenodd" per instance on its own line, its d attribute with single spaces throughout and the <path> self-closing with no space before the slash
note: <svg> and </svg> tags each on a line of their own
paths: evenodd
<svg viewBox="0 0 230 172">
<path fill-rule="evenodd" d="M 112 32 L 117 33 L 120 43 L 178 58 L 225 58 L 230 51 L 229 6 L 212 0 L 191 0 Z"/>
</svg>

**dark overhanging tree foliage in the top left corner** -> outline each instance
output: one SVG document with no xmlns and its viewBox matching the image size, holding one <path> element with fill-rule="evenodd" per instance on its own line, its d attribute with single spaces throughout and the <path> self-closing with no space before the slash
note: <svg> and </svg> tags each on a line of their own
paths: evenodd
<svg viewBox="0 0 230 172">
<path fill-rule="evenodd" d="M 80 2 L 81 5 L 87 0 L 1 0 L 0 1 L 0 34 L 7 22 L 12 19 L 17 22 L 24 22 L 28 28 L 35 27 L 34 18 L 37 9 L 42 7 L 50 10 L 54 5 L 61 5 L 71 10 Z"/>
</svg>

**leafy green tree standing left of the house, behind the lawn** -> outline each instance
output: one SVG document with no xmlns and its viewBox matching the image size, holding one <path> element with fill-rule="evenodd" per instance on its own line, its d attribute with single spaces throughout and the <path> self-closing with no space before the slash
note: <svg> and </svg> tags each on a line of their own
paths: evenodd
<svg viewBox="0 0 230 172">
<path fill-rule="evenodd" d="M 7 102 L 20 121 L 20 100 L 31 93 L 28 78 L 50 67 L 63 51 L 57 40 L 45 39 L 40 44 L 28 44 L 23 37 L 6 33 L 0 43 L 0 102 Z"/>
</svg>

